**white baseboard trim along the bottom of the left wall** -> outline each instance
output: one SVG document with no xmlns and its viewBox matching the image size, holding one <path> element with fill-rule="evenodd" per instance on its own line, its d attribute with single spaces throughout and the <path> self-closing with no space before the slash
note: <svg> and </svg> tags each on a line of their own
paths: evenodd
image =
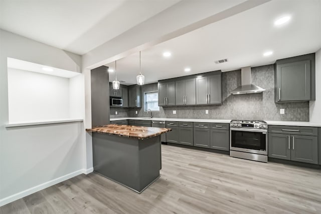
<svg viewBox="0 0 321 214">
<path fill-rule="evenodd" d="M 13 202 L 15 200 L 18 200 L 20 198 L 23 198 L 23 197 L 25 197 L 27 195 L 30 195 L 32 193 L 35 193 L 35 192 L 40 191 L 42 189 L 45 189 L 45 188 L 47 188 L 49 186 L 55 185 L 57 183 L 60 183 L 60 182 L 62 182 L 64 180 L 68 180 L 68 179 L 70 179 L 72 177 L 75 177 L 77 175 L 80 175 L 82 173 L 88 174 L 88 173 L 92 172 L 93 170 L 94 169 L 92 167 L 89 168 L 89 169 L 79 169 L 77 171 L 71 172 L 69 174 L 63 175 L 61 177 L 58 177 L 58 178 L 52 179 L 50 181 L 47 181 L 45 183 L 39 184 L 37 186 L 31 187 L 31 188 L 26 189 L 24 191 L 21 191 L 21 192 L 18 192 L 16 194 L 10 195 L 8 197 L 2 198 L 2 199 L 0 199 L 0 206 L 3 206 L 5 204 L 7 204 L 7 203 L 10 203 L 10 202 Z"/>
</svg>

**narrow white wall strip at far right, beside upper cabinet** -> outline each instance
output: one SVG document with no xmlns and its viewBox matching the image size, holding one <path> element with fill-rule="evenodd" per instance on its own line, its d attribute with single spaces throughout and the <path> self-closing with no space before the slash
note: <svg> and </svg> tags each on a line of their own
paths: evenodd
<svg viewBox="0 0 321 214">
<path fill-rule="evenodd" d="M 321 49 L 315 53 L 315 101 L 310 101 L 310 122 L 321 119 Z"/>
</svg>

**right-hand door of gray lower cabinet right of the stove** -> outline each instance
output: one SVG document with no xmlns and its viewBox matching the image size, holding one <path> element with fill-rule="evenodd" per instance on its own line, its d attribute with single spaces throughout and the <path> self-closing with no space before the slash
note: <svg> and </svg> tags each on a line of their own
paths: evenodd
<svg viewBox="0 0 321 214">
<path fill-rule="evenodd" d="M 317 137 L 291 135 L 291 160 L 317 164 Z"/>
</svg>

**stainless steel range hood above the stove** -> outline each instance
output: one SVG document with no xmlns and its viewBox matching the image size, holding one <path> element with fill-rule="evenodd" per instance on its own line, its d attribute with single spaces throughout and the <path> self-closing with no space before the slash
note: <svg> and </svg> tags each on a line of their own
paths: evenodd
<svg viewBox="0 0 321 214">
<path fill-rule="evenodd" d="M 242 85 L 240 87 L 231 91 L 231 94 L 254 94 L 265 91 L 265 89 L 252 84 L 251 67 L 241 68 L 241 84 Z"/>
</svg>

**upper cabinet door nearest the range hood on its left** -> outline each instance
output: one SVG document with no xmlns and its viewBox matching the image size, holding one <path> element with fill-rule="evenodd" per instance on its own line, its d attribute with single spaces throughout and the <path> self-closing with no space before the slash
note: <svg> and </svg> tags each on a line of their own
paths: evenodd
<svg viewBox="0 0 321 214">
<path fill-rule="evenodd" d="M 208 77 L 209 104 L 222 104 L 221 74 Z"/>
</svg>

